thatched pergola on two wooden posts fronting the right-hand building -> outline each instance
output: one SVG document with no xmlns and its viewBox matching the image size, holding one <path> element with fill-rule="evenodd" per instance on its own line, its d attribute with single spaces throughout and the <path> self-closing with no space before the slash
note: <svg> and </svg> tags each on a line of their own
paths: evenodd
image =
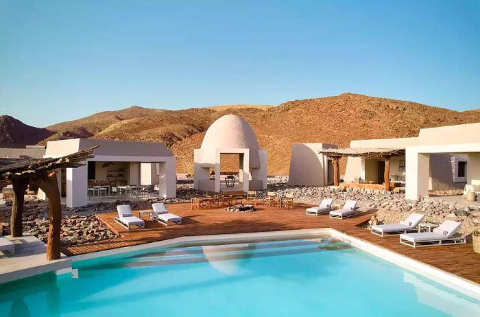
<svg viewBox="0 0 480 317">
<path fill-rule="evenodd" d="M 385 190 L 390 189 L 390 157 L 405 155 L 405 148 L 339 148 L 322 149 L 319 154 L 324 154 L 332 158 L 333 163 L 333 185 L 339 185 L 338 179 L 338 160 L 341 157 L 368 157 L 385 159 Z"/>
</svg>

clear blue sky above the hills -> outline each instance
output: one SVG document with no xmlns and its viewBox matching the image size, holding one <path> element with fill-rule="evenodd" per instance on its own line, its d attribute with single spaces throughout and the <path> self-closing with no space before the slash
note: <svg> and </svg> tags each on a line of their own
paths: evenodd
<svg viewBox="0 0 480 317">
<path fill-rule="evenodd" d="M 0 0 L 0 114 L 344 92 L 480 107 L 480 1 Z"/>
</svg>

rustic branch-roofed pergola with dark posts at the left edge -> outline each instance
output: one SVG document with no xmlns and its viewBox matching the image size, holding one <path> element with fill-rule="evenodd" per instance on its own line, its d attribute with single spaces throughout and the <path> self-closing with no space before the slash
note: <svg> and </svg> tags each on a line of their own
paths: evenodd
<svg viewBox="0 0 480 317">
<path fill-rule="evenodd" d="M 62 205 L 60 191 L 56 177 L 56 170 L 60 168 L 76 168 L 85 165 L 87 158 L 93 158 L 90 148 L 60 158 L 1 158 L 0 183 L 12 184 L 14 200 L 10 231 L 12 237 L 21 237 L 22 213 L 25 190 L 32 181 L 42 189 L 49 200 L 49 233 L 47 237 L 47 259 L 60 259 L 60 231 L 62 224 Z"/>
</svg>

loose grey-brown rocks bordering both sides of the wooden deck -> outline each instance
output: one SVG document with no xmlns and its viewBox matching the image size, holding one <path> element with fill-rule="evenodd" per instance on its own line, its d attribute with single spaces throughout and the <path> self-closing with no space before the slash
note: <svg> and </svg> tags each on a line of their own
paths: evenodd
<svg viewBox="0 0 480 317">
<path fill-rule="evenodd" d="M 427 222 L 440 223 L 445 219 L 461 222 L 461 235 L 471 235 L 480 228 L 480 208 L 473 209 L 442 200 L 442 197 L 424 198 L 422 200 L 405 200 L 403 193 L 390 193 L 367 189 L 341 190 L 336 187 L 289 187 L 278 180 L 269 183 L 265 191 L 276 191 L 278 194 L 293 193 L 296 202 L 318 204 L 323 198 L 333 198 L 335 202 L 357 200 L 360 211 L 375 211 L 372 223 L 391 224 L 404 220 L 412 213 L 423 213 Z M 200 195 L 195 191 L 191 181 L 185 180 L 177 186 L 177 198 L 160 199 L 145 198 L 142 201 L 117 200 L 115 202 L 98 202 L 86 207 L 62 208 L 62 244 L 85 244 L 115 237 L 97 217 L 98 213 L 115 211 L 117 204 L 130 204 L 132 209 L 148 208 L 152 202 L 189 202 L 191 196 Z M 442 193 L 445 196 L 447 193 Z M 0 207 L 5 212 L 5 219 L 10 219 L 10 204 Z M 27 198 L 23 213 L 23 230 L 46 241 L 48 232 L 48 203 Z M 8 225 L 8 224 L 7 224 Z M 8 234 L 5 228 L 4 234 Z"/>
</svg>

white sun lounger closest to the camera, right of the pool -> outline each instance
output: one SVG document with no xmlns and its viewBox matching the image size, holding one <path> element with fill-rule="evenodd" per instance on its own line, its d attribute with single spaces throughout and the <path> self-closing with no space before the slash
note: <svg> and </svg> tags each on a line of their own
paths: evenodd
<svg viewBox="0 0 480 317">
<path fill-rule="evenodd" d="M 400 243 L 413 248 L 420 246 L 446 246 L 449 244 L 465 244 L 465 237 L 453 237 L 460 228 L 460 222 L 445 220 L 432 232 L 404 233 L 400 235 Z"/>
</svg>

